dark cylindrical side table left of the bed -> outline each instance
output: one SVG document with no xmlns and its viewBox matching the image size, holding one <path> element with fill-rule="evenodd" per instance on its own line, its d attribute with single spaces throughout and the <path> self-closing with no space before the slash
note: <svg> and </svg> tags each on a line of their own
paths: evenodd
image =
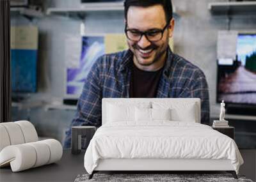
<svg viewBox="0 0 256 182">
<path fill-rule="evenodd" d="M 71 130 L 71 153 L 79 154 L 82 149 L 82 136 L 85 136 L 85 149 L 88 148 L 90 140 L 96 131 L 95 126 L 72 126 Z"/>
</svg>

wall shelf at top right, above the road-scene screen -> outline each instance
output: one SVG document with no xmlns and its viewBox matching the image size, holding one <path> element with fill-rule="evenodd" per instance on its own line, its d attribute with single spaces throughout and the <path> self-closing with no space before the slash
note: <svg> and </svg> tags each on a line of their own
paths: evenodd
<svg viewBox="0 0 256 182">
<path fill-rule="evenodd" d="M 209 3 L 208 9 L 214 15 L 223 15 L 230 13 L 232 15 L 247 15 L 256 13 L 255 1 L 239 1 L 239 2 L 215 2 Z"/>
</svg>

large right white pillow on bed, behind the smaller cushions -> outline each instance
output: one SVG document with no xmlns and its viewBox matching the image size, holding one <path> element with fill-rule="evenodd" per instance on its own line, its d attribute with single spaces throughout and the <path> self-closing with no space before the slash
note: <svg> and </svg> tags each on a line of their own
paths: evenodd
<svg viewBox="0 0 256 182">
<path fill-rule="evenodd" d="M 195 102 L 152 102 L 153 109 L 171 109 L 172 121 L 196 122 L 198 114 Z"/>
</svg>

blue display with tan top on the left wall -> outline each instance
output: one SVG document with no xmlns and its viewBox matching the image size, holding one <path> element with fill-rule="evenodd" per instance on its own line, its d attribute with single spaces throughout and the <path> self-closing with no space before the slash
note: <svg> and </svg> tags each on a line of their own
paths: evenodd
<svg viewBox="0 0 256 182">
<path fill-rule="evenodd" d="M 11 82 L 13 93 L 37 89 L 38 27 L 11 27 Z"/>
</svg>

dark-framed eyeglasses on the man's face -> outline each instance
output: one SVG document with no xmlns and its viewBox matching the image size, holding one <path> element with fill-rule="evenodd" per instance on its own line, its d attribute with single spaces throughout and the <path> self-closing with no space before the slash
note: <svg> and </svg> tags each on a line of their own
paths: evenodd
<svg viewBox="0 0 256 182">
<path fill-rule="evenodd" d="M 151 29 L 149 31 L 139 31 L 138 29 L 127 29 L 127 24 L 125 24 L 125 34 L 127 38 L 134 42 L 139 42 L 143 35 L 146 36 L 147 40 L 150 42 L 157 42 L 163 38 L 163 33 L 165 29 L 170 24 L 166 24 L 163 29 Z"/>
</svg>

